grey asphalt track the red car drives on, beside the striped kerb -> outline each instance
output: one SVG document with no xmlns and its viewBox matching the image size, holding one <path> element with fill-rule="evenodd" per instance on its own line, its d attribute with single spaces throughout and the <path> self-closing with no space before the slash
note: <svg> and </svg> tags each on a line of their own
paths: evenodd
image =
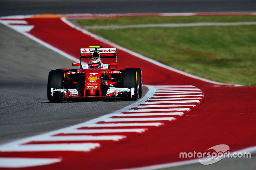
<svg viewBox="0 0 256 170">
<path fill-rule="evenodd" d="M 118 102 L 118 107 L 110 106 L 109 109 L 112 110 L 103 109 L 102 113 L 93 112 L 95 107 L 99 108 L 99 102 L 97 102 L 97 106 L 95 106 L 96 102 L 89 104 L 65 102 L 58 104 L 58 106 L 52 105 L 46 99 L 48 72 L 61 67 L 70 68 L 72 61 L 35 43 L 20 33 L 3 25 L 0 26 L 0 69 L 1 72 L 5 73 L 1 74 L 1 79 L 4 81 L 1 82 L 0 87 L 2 92 L 0 105 L 2 143 L 84 122 L 130 104 Z M 17 54 L 19 57 L 16 57 Z M 109 102 L 100 103 L 102 103 L 102 108 L 109 105 Z M 113 104 L 117 106 L 114 102 Z M 70 108 L 70 106 L 72 107 Z M 84 108 L 89 108 L 86 115 Z M 74 109 L 76 110 L 74 111 Z M 242 160 L 239 159 L 239 161 Z M 239 161 L 232 161 L 232 164 L 236 162 L 238 165 L 244 166 L 252 163 L 246 162 L 248 159 L 243 160 L 241 164 Z M 218 166 L 222 167 L 220 164 Z M 218 166 L 213 168 L 218 168 Z M 239 167 L 236 164 L 233 166 L 234 168 Z M 190 168 L 191 166 L 184 166 L 184 168 L 186 167 Z M 196 168 L 197 166 L 195 166 Z"/>
</svg>

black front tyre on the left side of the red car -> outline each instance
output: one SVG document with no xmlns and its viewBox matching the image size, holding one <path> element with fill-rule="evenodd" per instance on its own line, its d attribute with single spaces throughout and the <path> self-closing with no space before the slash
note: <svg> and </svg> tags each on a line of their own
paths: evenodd
<svg viewBox="0 0 256 170">
<path fill-rule="evenodd" d="M 58 96 L 51 95 L 51 88 L 54 89 L 63 89 L 64 88 L 64 71 L 62 70 L 51 70 L 48 75 L 47 83 L 47 98 L 50 102 L 62 102 L 63 99 L 60 99 Z"/>
</svg>

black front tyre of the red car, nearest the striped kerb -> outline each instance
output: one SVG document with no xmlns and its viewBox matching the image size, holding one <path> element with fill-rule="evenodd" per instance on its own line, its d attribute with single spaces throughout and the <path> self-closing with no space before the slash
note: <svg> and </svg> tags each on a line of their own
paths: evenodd
<svg viewBox="0 0 256 170">
<path fill-rule="evenodd" d="M 123 70 L 121 74 L 121 88 L 132 88 L 132 87 L 134 87 L 133 100 L 138 100 L 139 98 L 138 73 L 135 69 Z"/>
</svg>

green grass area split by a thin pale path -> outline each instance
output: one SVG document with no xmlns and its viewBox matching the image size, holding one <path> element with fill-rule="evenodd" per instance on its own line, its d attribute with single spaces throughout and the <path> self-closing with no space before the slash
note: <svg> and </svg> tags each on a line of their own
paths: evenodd
<svg viewBox="0 0 256 170">
<path fill-rule="evenodd" d="M 79 19 L 83 26 L 255 22 L 256 16 Z M 90 29 L 160 63 L 210 80 L 256 85 L 256 25 Z"/>
</svg>

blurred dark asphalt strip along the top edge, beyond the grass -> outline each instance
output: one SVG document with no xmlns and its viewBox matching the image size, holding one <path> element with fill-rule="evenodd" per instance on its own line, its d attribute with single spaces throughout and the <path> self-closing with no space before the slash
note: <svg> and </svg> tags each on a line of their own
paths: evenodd
<svg viewBox="0 0 256 170">
<path fill-rule="evenodd" d="M 1 0 L 0 16 L 44 13 L 255 12 L 255 0 Z"/>
</svg>

